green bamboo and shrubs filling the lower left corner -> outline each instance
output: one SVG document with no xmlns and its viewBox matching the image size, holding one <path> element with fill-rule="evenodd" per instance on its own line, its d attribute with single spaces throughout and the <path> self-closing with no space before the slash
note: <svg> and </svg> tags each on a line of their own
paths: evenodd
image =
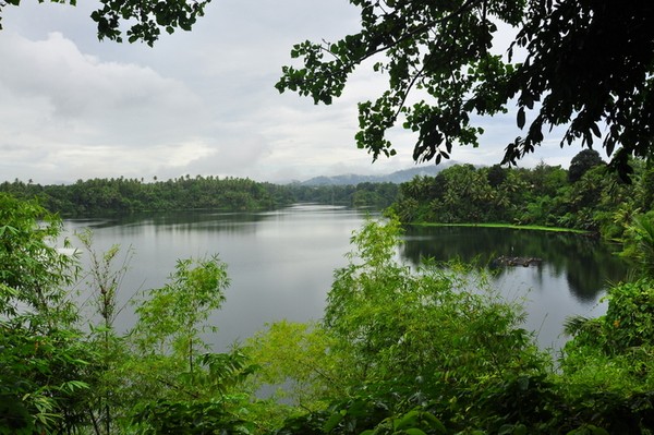
<svg viewBox="0 0 654 435">
<path fill-rule="evenodd" d="M 134 302 L 137 322 L 121 331 L 119 249 L 90 253 L 84 312 L 71 290 L 83 279 L 78 253 L 52 247 L 60 219 L 34 201 L 0 194 L 0 433 L 180 433 L 162 427 L 190 426 L 201 409 L 220 410 L 207 411 L 216 421 L 205 428 L 241 424 L 241 386 L 254 367 L 203 341 L 229 285 L 218 257 L 180 261 L 168 285 Z M 81 239 L 92 246 L 90 234 Z"/>
</svg>

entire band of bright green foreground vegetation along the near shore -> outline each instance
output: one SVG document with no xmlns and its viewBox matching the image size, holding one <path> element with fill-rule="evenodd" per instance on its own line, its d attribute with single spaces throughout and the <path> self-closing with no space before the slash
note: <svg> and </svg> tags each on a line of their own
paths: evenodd
<svg viewBox="0 0 654 435">
<path fill-rule="evenodd" d="M 629 225 L 643 267 L 574 318 L 554 359 L 519 304 L 460 264 L 397 261 L 400 222 L 368 221 L 335 271 L 323 321 L 279 322 L 230 352 L 204 341 L 229 286 L 217 257 L 182 259 L 113 324 L 120 249 L 52 249 L 60 221 L 0 194 L 0 434 L 651 434 L 654 292 L 646 217 Z M 651 222 L 651 220 L 647 220 Z M 650 234 L 650 235 L 647 235 Z M 93 249 L 92 235 L 82 234 Z M 129 258 L 129 253 L 126 254 Z M 118 264 L 116 264 L 118 262 Z M 86 279 L 84 277 L 87 277 Z M 93 294 L 74 303 L 74 282 Z M 268 392 L 264 392 L 268 391 Z"/>
</svg>

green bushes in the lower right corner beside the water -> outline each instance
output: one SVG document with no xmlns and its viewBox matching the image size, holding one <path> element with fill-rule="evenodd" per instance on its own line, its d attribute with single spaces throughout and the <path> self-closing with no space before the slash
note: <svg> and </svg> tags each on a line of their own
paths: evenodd
<svg viewBox="0 0 654 435">
<path fill-rule="evenodd" d="M 561 368 L 569 400 L 609 433 L 650 433 L 654 424 L 653 289 L 650 278 L 616 285 L 605 315 L 567 323 L 573 338 Z"/>
</svg>

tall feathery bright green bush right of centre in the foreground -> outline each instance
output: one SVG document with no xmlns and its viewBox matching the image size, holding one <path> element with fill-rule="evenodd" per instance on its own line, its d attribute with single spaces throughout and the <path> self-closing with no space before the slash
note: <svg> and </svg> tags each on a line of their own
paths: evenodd
<svg viewBox="0 0 654 435">
<path fill-rule="evenodd" d="M 427 263 L 413 273 L 397 264 L 398 230 L 392 219 L 366 223 L 352 239 L 352 263 L 335 275 L 324 323 L 339 338 L 334 348 L 349 355 L 343 376 L 415 391 L 537 363 L 517 306 L 461 266 Z"/>
</svg>

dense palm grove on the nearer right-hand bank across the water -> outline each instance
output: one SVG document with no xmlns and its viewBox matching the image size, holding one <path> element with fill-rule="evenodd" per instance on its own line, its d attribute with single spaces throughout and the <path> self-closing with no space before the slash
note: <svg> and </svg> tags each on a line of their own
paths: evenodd
<svg viewBox="0 0 654 435">
<path fill-rule="evenodd" d="M 401 184 L 390 208 L 405 222 L 538 225 L 620 239 L 626 223 L 652 207 L 652 169 L 642 160 L 631 166 L 634 173 L 626 183 L 589 150 L 569 171 L 544 164 L 533 169 L 456 165 Z"/>
</svg>

